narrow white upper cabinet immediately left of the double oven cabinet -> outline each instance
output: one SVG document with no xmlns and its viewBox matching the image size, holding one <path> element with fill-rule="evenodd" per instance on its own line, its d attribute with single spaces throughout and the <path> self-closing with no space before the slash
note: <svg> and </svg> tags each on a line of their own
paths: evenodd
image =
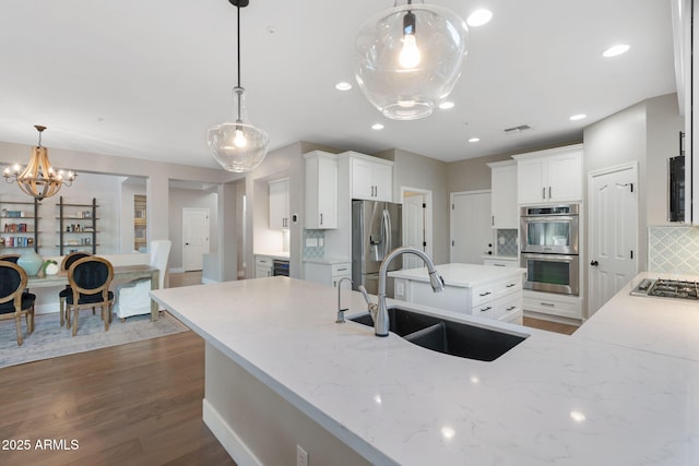
<svg viewBox="0 0 699 466">
<path fill-rule="evenodd" d="M 490 208 L 493 228 L 519 228 L 517 162 L 495 162 L 490 167 Z"/>
</svg>

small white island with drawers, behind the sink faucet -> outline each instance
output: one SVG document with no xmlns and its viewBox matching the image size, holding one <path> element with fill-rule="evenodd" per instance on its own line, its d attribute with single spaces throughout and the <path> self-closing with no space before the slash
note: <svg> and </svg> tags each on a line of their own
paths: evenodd
<svg viewBox="0 0 699 466">
<path fill-rule="evenodd" d="M 435 295 L 426 267 L 389 272 L 395 299 L 522 324 L 522 282 L 526 270 L 482 264 L 441 264 L 445 290 Z"/>
</svg>

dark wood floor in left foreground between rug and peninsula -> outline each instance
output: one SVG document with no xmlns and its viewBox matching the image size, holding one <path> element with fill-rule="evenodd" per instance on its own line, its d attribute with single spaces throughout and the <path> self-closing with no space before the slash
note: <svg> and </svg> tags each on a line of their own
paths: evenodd
<svg viewBox="0 0 699 466">
<path fill-rule="evenodd" d="M 193 332 L 0 369 L 0 465 L 235 465 L 202 421 Z"/>
</svg>

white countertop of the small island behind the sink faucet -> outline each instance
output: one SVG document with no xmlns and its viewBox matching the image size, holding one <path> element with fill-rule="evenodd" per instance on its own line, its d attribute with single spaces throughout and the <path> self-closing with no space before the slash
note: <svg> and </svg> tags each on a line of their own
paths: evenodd
<svg viewBox="0 0 699 466">
<path fill-rule="evenodd" d="M 445 285 L 460 288 L 473 288 L 491 280 L 506 279 L 526 273 L 524 268 L 519 267 L 494 267 L 491 265 L 459 263 L 441 264 L 437 265 L 436 268 L 445 279 Z M 389 272 L 389 276 L 416 282 L 429 282 L 427 267 Z"/>
</svg>

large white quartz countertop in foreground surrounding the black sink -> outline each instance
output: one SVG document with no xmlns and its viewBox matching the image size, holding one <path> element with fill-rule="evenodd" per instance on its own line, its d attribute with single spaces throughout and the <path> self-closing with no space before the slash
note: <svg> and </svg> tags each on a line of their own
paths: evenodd
<svg viewBox="0 0 699 466">
<path fill-rule="evenodd" d="M 461 316 L 530 335 L 497 360 L 483 362 L 433 353 L 393 334 L 376 337 L 371 327 L 354 322 L 336 324 L 337 290 L 293 278 L 152 295 L 374 464 L 699 461 L 699 362 L 684 356 L 699 346 L 699 321 L 687 316 L 683 325 L 689 327 L 680 332 L 686 337 L 670 342 L 671 328 L 679 332 L 674 316 L 699 313 L 699 304 L 645 304 L 651 298 L 623 291 L 573 336 Z M 358 292 L 343 298 L 350 313 L 366 309 Z M 625 332 L 616 328 L 615 309 L 655 312 L 655 319 L 636 319 Z M 638 330 L 644 332 L 628 335 Z"/>
</svg>

